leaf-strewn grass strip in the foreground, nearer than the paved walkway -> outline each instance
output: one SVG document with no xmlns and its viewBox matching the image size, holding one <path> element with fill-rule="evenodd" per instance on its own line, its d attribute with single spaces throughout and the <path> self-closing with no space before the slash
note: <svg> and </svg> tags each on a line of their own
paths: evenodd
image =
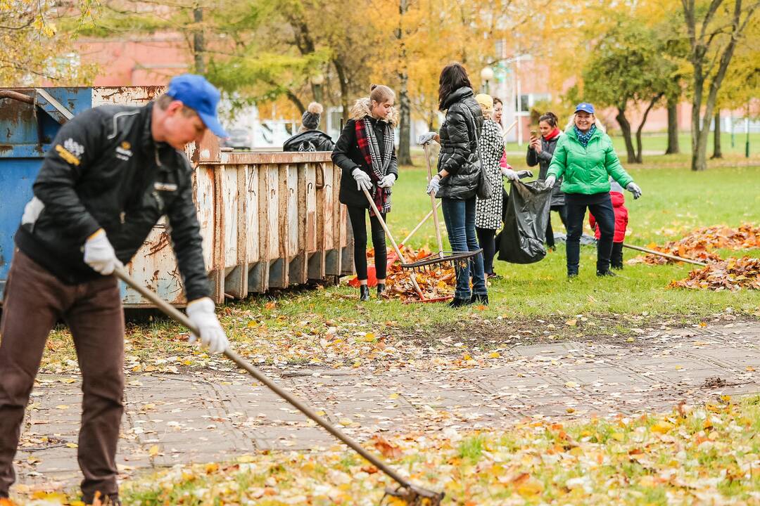
<svg viewBox="0 0 760 506">
<path fill-rule="evenodd" d="M 760 396 L 657 416 L 377 436 L 366 447 L 443 504 L 760 504 Z M 131 506 L 381 504 L 388 477 L 344 448 L 177 465 L 123 484 Z M 23 503 L 21 503 L 23 504 Z M 65 504 L 56 499 L 34 504 Z M 382 504 L 401 506 L 393 499 Z"/>
</svg>

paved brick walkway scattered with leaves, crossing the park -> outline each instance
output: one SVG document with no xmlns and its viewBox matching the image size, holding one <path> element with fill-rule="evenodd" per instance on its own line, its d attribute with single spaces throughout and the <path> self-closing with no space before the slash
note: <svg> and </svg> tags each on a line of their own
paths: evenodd
<svg viewBox="0 0 760 506">
<path fill-rule="evenodd" d="M 517 346 L 487 369 L 314 370 L 277 376 L 359 440 L 377 432 L 505 426 L 524 416 L 669 410 L 679 401 L 760 391 L 760 323 L 649 332 L 622 345 Z M 19 480 L 74 486 L 80 383 L 43 375 L 28 410 Z M 119 466 L 137 470 L 226 460 L 262 449 L 334 445 L 248 376 L 128 377 Z M 45 441 L 43 436 L 49 439 Z M 68 445 L 67 445 L 68 444 Z"/>
</svg>

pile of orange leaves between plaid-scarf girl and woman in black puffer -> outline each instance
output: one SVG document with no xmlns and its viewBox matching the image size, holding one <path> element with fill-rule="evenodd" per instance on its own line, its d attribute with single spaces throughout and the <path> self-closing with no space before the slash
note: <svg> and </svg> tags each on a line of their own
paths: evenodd
<svg viewBox="0 0 760 506">
<path fill-rule="evenodd" d="M 422 247 L 420 250 L 413 250 L 410 247 L 402 246 L 401 253 L 404 260 L 409 263 L 419 262 L 430 256 L 432 251 L 428 247 Z M 390 255 L 391 253 L 389 253 Z M 368 256 L 374 256 L 374 250 L 368 251 Z M 368 262 L 372 260 L 368 259 Z M 414 276 L 420 290 L 426 299 L 437 299 L 440 297 L 451 297 L 454 294 L 454 287 L 457 284 L 457 276 L 451 264 L 438 264 L 429 266 L 428 271 L 415 271 Z M 388 268 L 388 278 L 385 281 L 386 291 L 385 298 L 401 299 L 404 301 L 420 300 L 412 284 L 412 272 L 401 267 L 401 261 L 394 262 Z"/>
</svg>

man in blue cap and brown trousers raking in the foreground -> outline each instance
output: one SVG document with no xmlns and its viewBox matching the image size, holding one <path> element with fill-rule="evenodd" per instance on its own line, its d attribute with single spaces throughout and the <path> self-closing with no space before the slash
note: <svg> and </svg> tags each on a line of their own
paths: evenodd
<svg viewBox="0 0 760 506">
<path fill-rule="evenodd" d="M 82 371 L 78 461 L 83 500 L 119 503 L 116 445 L 123 412 L 124 313 L 116 266 L 129 262 L 162 216 L 185 287 L 188 317 L 211 353 L 226 349 L 201 249 L 188 143 L 226 137 L 219 91 L 175 77 L 155 102 L 103 105 L 64 124 L 24 208 L 3 301 L 0 342 L 0 498 L 46 339 L 62 319 Z"/>
</svg>

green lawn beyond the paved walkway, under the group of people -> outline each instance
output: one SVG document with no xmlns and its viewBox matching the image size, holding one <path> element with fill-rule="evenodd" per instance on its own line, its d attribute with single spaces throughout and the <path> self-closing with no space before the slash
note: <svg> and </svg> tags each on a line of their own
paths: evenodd
<svg viewBox="0 0 760 506">
<path fill-rule="evenodd" d="M 394 187 L 394 208 L 388 215 L 388 223 L 398 240 L 430 209 L 424 193 L 426 170 L 420 159 L 416 163 L 416 167 L 401 168 L 401 177 Z M 644 190 L 644 196 L 635 201 L 626 193 L 630 244 L 663 244 L 701 226 L 760 223 L 760 159 L 752 159 L 752 165 L 745 165 L 740 158 L 711 162 L 708 171 L 701 173 L 687 167 L 686 155 L 651 157 L 644 165 L 628 167 Z M 552 219 L 555 230 L 563 231 L 556 213 Z M 443 223 L 441 228 L 445 240 Z M 435 244 L 432 220 L 410 240 L 412 247 L 423 244 Z M 625 259 L 636 254 L 632 250 L 624 253 Z M 758 257 L 760 250 L 720 254 Z M 344 278 L 340 286 L 321 290 L 277 291 L 237 300 L 226 304 L 220 314 L 240 352 L 262 357 L 265 363 L 272 363 L 273 357 L 287 363 L 307 363 L 315 357 L 313 350 L 319 349 L 319 340 L 325 338 L 328 328 L 337 328 L 340 339 L 328 336 L 330 351 L 334 352 L 334 363 L 349 366 L 357 357 L 372 360 L 375 353 L 372 351 L 375 343 L 356 338 L 356 332 L 372 332 L 375 339 L 391 341 L 413 335 L 437 342 L 436 336 L 442 332 L 451 335 L 464 333 L 468 328 L 487 348 L 498 347 L 510 338 L 516 333 L 516 325 L 530 328 L 534 336 L 622 336 L 632 332 L 631 328 L 663 322 L 671 326 L 700 322 L 715 313 L 724 313 L 727 308 L 744 317 L 760 316 L 757 291 L 667 288 L 670 281 L 686 278 L 694 266 L 626 265 L 616 278 L 600 279 L 595 274 L 595 259 L 594 247 L 581 247 L 581 274 L 572 283 L 565 276 L 562 244 L 534 264 L 496 261 L 496 272 L 503 278 L 489 282 L 491 303 L 487 308 L 451 310 L 439 303 L 379 302 L 374 293 L 370 303 L 359 304 L 356 289 L 348 287 Z M 271 300 L 277 300 L 276 307 L 268 306 Z M 578 319 L 578 327 L 565 326 L 566 320 L 578 315 L 584 315 L 587 321 Z M 478 320 L 499 319 L 505 321 L 497 327 L 477 326 L 481 325 Z M 547 327 L 549 323 L 556 326 Z M 150 371 L 149 366 L 170 372 L 169 366 L 207 365 L 208 357 L 201 350 L 188 348 L 179 332 L 182 332 L 179 325 L 166 320 L 130 325 L 127 355 L 137 359 L 134 366 L 129 362 L 129 367 L 136 372 Z M 324 360 L 324 353 L 318 355 Z M 160 357 L 177 358 L 172 363 L 157 363 Z M 44 369 L 68 371 L 76 366 L 74 358 L 68 332 L 54 332 L 43 361 Z"/>
</svg>

